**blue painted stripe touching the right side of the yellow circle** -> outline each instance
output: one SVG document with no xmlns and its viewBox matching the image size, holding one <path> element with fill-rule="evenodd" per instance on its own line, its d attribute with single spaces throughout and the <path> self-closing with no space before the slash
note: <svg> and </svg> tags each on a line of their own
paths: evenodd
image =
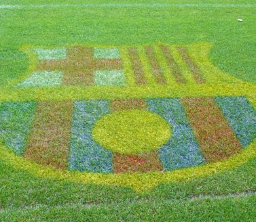
<svg viewBox="0 0 256 222">
<path fill-rule="evenodd" d="M 172 135 L 159 156 L 164 170 L 171 171 L 204 164 L 194 133 L 179 99 L 147 99 L 148 110 L 162 116 L 171 126 Z"/>
</svg>

